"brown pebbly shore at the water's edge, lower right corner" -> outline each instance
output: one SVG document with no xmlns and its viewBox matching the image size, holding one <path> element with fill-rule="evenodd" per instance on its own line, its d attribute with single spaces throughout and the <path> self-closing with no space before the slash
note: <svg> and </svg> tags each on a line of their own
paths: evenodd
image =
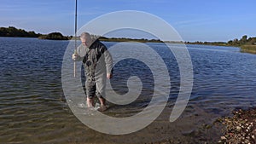
<svg viewBox="0 0 256 144">
<path fill-rule="evenodd" d="M 230 113 L 230 116 L 216 118 L 212 124 L 202 124 L 201 127 L 197 127 L 199 130 L 206 130 L 203 132 L 207 134 L 209 131 L 218 132 L 220 135 L 219 139 L 216 141 L 205 141 L 206 137 L 199 140 L 192 140 L 196 142 L 210 142 L 210 143 L 232 143 L 240 144 L 256 143 L 256 107 L 248 109 L 236 109 Z M 216 131 L 217 130 L 217 131 Z M 202 132 L 202 131 L 201 131 Z M 197 132 L 198 133 L 198 132 Z M 197 134 L 194 131 L 192 133 L 186 134 L 186 136 L 195 136 Z M 200 132 L 199 132 L 200 133 Z M 208 135 L 209 136 L 209 135 Z M 188 139 L 189 140 L 189 139 Z M 167 139 L 163 141 L 152 141 L 153 144 L 169 144 L 169 143 L 189 143 L 191 141 L 186 140 L 175 140 Z M 149 142 L 150 143 L 150 142 Z"/>
</svg>

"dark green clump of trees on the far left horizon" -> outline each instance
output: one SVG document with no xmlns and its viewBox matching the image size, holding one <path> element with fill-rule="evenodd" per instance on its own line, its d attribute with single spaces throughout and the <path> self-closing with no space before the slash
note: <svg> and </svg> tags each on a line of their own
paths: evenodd
<svg viewBox="0 0 256 144">
<path fill-rule="evenodd" d="M 0 37 L 39 37 L 40 35 L 39 33 L 17 29 L 14 26 L 0 27 Z"/>
</svg>

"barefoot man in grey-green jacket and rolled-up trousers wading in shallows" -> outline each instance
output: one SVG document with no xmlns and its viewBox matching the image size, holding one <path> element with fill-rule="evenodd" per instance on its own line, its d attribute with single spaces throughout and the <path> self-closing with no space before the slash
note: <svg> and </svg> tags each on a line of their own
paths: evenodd
<svg viewBox="0 0 256 144">
<path fill-rule="evenodd" d="M 101 102 L 99 111 L 107 110 L 105 96 L 106 78 L 112 78 L 113 60 L 106 46 L 98 39 L 93 40 L 90 34 L 84 32 L 80 36 L 82 44 L 73 54 L 73 60 L 83 60 L 86 76 L 85 89 L 87 106 L 94 107 L 94 97 Z"/>
</svg>

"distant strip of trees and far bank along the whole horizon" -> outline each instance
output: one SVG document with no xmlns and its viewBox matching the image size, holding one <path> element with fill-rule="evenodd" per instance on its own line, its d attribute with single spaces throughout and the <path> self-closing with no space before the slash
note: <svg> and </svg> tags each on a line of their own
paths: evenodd
<svg viewBox="0 0 256 144">
<path fill-rule="evenodd" d="M 51 40 L 68 40 L 73 37 L 63 36 L 61 32 L 51 32 L 49 34 L 41 34 L 36 32 L 26 32 L 22 29 L 17 29 L 14 26 L 0 27 L 0 37 L 38 37 L 40 39 L 51 39 Z M 99 38 L 102 41 L 108 42 L 139 42 L 139 43 L 186 43 L 186 44 L 206 44 L 206 45 L 218 45 L 218 46 L 236 46 L 241 47 L 242 52 L 249 52 L 256 54 L 256 37 L 242 36 L 240 39 L 233 39 L 228 42 L 173 42 L 173 41 L 161 41 L 160 39 L 135 39 L 127 37 L 100 37 L 92 35 L 94 38 Z M 79 39 L 79 37 L 76 37 Z"/>
</svg>

